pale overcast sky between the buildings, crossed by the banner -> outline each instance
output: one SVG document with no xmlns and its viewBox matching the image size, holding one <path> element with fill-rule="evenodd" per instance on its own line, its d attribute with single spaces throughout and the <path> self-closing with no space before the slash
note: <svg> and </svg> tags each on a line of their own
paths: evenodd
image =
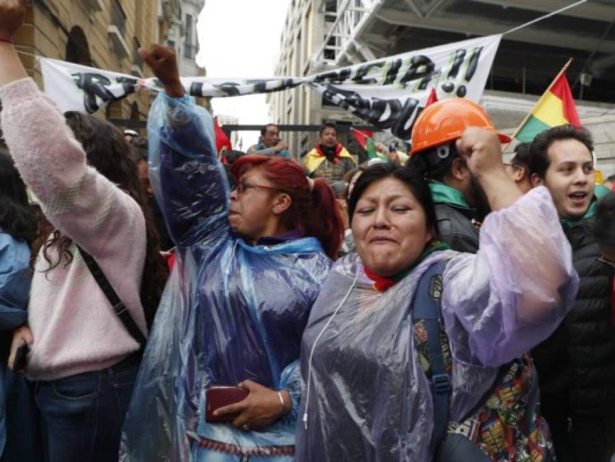
<svg viewBox="0 0 615 462">
<path fill-rule="evenodd" d="M 198 17 L 196 62 L 207 77 L 272 77 L 289 0 L 206 0 Z M 264 95 L 213 98 L 213 115 L 239 117 L 241 124 L 269 122 Z M 244 151 L 258 132 L 244 131 Z"/>
</svg>

